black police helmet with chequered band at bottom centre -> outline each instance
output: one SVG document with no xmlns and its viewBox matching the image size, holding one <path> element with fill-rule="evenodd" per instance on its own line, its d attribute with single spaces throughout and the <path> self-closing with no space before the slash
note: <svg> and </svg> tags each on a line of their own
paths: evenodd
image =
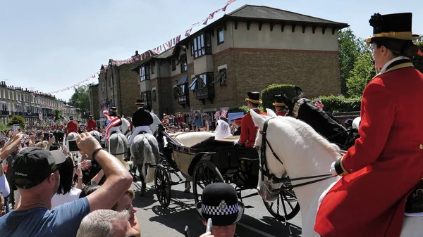
<svg viewBox="0 0 423 237">
<path fill-rule="evenodd" d="M 215 226 L 229 226 L 243 217 L 244 204 L 238 202 L 231 184 L 209 184 L 202 191 L 201 198 L 201 202 L 197 203 L 197 212 L 205 222 L 212 218 Z"/>
</svg>

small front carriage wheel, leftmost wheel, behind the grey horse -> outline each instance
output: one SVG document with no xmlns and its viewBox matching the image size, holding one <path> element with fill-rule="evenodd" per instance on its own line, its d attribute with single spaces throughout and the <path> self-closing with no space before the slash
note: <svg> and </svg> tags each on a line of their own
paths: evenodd
<svg viewBox="0 0 423 237">
<path fill-rule="evenodd" d="M 171 203 L 171 182 L 166 168 L 162 165 L 157 165 L 156 172 L 154 172 L 154 186 L 160 205 L 168 207 Z"/>
</svg>

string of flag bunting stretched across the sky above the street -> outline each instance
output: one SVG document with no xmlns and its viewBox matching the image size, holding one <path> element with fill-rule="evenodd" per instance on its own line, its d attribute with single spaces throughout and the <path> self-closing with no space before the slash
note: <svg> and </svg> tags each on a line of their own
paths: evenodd
<svg viewBox="0 0 423 237">
<path fill-rule="evenodd" d="M 228 0 L 226 2 L 225 6 L 223 6 L 223 8 L 219 8 L 219 9 L 213 11 L 212 13 L 209 14 L 209 16 L 207 18 L 205 18 L 204 20 L 201 20 L 201 21 L 199 21 L 197 23 L 192 24 L 191 27 L 190 27 L 190 29 L 185 30 L 181 34 L 178 34 L 178 36 L 174 37 L 173 39 L 171 39 L 169 41 L 166 41 L 164 44 L 161 44 L 160 46 L 157 46 L 154 49 L 151 49 L 149 51 L 146 51 L 145 53 L 139 54 L 137 56 L 133 56 L 131 58 L 127 58 L 127 59 L 124 59 L 124 60 L 114 60 L 114 61 L 111 62 L 111 65 L 120 66 L 120 65 L 123 65 L 123 64 L 126 64 L 126 63 L 135 63 L 135 62 L 137 62 L 139 60 L 143 60 L 144 58 L 157 55 L 159 53 L 162 53 L 162 52 L 170 49 L 171 47 L 173 47 L 173 46 L 175 46 L 176 44 L 179 43 L 182 34 L 184 34 L 185 37 L 189 37 L 190 34 L 191 34 L 191 32 L 192 32 L 192 28 L 193 27 L 197 27 L 199 25 L 207 25 L 208 21 L 209 20 L 212 20 L 214 18 L 214 15 L 216 13 L 219 13 L 219 11 L 226 12 L 226 8 L 229 5 L 233 4 L 234 1 L 236 1 L 236 0 Z M 109 65 L 104 65 L 104 70 L 108 70 L 108 69 L 109 69 Z M 95 72 L 94 75 L 92 75 L 90 77 L 87 77 L 86 79 L 82 80 L 81 82 L 78 82 L 77 84 L 73 84 L 70 87 L 66 87 L 64 89 L 60 89 L 60 90 L 57 90 L 57 91 L 51 91 L 51 92 L 48 92 L 48 94 L 56 94 L 56 93 L 59 93 L 59 92 L 68 91 L 68 90 L 73 89 L 75 87 L 79 87 L 81 84 L 84 84 L 85 82 L 89 82 L 90 80 L 92 80 L 95 77 L 97 77 L 97 75 L 99 75 L 100 72 L 101 71 Z"/>
</svg>

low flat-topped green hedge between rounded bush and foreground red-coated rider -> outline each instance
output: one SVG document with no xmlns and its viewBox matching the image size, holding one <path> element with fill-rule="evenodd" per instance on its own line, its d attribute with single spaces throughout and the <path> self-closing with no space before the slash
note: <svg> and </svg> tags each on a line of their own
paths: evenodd
<svg viewBox="0 0 423 237">
<path fill-rule="evenodd" d="M 353 112 L 360 111 L 362 98 L 345 98 L 340 96 L 319 96 L 319 100 L 323 103 L 323 110 L 330 113 Z M 315 99 L 312 100 L 313 103 Z"/>
</svg>

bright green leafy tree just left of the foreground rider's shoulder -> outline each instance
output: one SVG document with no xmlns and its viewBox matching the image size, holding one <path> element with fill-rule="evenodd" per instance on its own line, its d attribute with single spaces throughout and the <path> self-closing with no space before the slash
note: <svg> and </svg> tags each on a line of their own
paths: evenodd
<svg viewBox="0 0 423 237">
<path fill-rule="evenodd" d="M 347 79 L 348 95 L 362 96 L 364 88 L 374 75 L 372 53 L 365 51 L 357 58 L 351 76 Z"/>
</svg>

